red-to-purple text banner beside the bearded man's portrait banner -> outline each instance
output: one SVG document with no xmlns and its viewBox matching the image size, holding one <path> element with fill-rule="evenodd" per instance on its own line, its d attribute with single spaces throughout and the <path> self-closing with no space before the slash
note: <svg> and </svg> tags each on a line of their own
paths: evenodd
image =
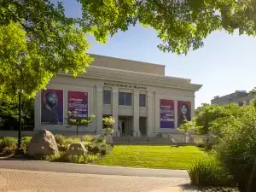
<svg viewBox="0 0 256 192">
<path fill-rule="evenodd" d="M 73 119 L 87 119 L 88 92 L 67 90 L 67 111 Z"/>
</svg>

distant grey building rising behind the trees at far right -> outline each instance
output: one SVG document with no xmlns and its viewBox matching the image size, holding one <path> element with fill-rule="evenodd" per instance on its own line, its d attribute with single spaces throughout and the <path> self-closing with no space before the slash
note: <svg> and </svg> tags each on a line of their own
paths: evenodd
<svg viewBox="0 0 256 192">
<path fill-rule="evenodd" d="M 226 96 L 214 96 L 211 104 L 227 105 L 234 102 L 238 106 L 243 106 L 253 102 L 255 98 L 256 94 L 249 94 L 246 90 L 236 90 L 236 92 Z"/>
</svg>

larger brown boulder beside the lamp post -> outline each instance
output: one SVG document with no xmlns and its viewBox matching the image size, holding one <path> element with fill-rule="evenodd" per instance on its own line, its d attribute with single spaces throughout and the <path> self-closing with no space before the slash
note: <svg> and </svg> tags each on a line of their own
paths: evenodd
<svg viewBox="0 0 256 192">
<path fill-rule="evenodd" d="M 44 156 L 57 153 L 58 147 L 55 137 L 47 130 L 39 130 L 28 144 L 28 154 L 31 156 Z"/>
</svg>

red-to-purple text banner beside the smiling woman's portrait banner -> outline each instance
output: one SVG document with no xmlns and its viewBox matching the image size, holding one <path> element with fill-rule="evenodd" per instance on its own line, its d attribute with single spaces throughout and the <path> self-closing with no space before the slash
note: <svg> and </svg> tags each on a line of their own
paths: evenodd
<svg viewBox="0 0 256 192">
<path fill-rule="evenodd" d="M 175 128 L 174 100 L 160 99 L 160 128 Z"/>
</svg>

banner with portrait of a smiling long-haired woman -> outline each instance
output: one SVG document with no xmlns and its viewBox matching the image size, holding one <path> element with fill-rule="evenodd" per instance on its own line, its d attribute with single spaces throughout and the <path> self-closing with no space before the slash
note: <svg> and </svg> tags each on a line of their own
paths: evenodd
<svg viewBox="0 0 256 192">
<path fill-rule="evenodd" d="M 184 120 L 191 120 L 191 102 L 177 101 L 177 127 L 183 125 Z"/>
</svg>

